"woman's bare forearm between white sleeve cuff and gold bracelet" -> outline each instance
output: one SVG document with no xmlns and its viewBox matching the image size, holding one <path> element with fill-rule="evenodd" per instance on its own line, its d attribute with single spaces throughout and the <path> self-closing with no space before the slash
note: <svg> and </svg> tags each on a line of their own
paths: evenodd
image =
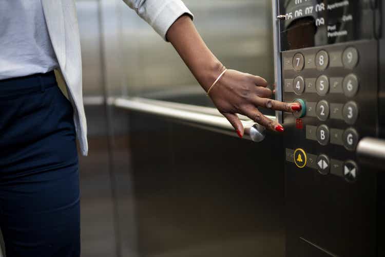
<svg viewBox="0 0 385 257">
<path fill-rule="evenodd" d="M 166 37 L 207 91 L 224 67 L 203 42 L 190 16 L 179 17 L 168 30 Z"/>
</svg>

